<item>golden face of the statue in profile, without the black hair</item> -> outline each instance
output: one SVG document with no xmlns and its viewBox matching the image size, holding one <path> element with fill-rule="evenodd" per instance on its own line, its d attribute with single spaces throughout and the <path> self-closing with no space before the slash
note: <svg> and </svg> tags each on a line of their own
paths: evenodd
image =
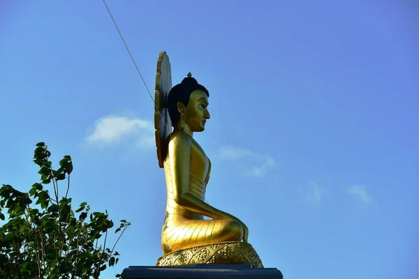
<svg viewBox="0 0 419 279">
<path fill-rule="evenodd" d="M 205 130 L 205 123 L 207 119 L 210 119 L 210 112 L 208 112 L 208 96 L 204 91 L 193 91 L 189 97 L 188 105 L 183 106 L 182 110 L 184 111 L 185 124 L 192 132 Z"/>
</svg>

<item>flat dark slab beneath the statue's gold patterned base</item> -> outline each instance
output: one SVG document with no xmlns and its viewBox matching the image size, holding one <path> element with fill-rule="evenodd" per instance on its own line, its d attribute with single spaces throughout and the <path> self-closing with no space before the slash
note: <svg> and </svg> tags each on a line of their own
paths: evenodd
<svg viewBox="0 0 419 279">
<path fill-rule="evenodd" d="M 284 279 L 278 269 L 254 269 L 251 264 L 192 264 L 185 266 L 129 266 L 123 279 Z"/>
</svg>

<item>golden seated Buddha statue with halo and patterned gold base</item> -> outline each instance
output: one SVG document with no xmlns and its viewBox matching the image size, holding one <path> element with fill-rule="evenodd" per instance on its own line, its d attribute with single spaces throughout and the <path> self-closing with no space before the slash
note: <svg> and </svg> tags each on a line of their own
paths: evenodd
<svg viewBox="0 0 419 279">
<path fill-rule="evenodd" d="M 191 73 L 172 87 L 170 61 L 166 52 L 159 54 L 154 123 L 167 204 L 161 233 L 163 257 L 157 265 L 251 262 L 263 267 L 247 243 L 247 226 L 205 202 L 211 161 L 193 133 L 203 132 L 210 119 L 209 96 Z"/>
</svg>

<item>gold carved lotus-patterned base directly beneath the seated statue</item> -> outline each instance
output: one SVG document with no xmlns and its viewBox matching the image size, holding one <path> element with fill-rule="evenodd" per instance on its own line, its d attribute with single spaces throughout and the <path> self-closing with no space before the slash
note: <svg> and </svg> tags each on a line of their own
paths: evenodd
<svg viewBox="0 0 419 279">
<path fill-rule="evenodd" d="M 230 241 L 206 244 L 171 252 L 157 260 L 156 266 L 184 264 L 242 264 L 263 268 L 262 261 L 249 243 Z"/>
</svg>

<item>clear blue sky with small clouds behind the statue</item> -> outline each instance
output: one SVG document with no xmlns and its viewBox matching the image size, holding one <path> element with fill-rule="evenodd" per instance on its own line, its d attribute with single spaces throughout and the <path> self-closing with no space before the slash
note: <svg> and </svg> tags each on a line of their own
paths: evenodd
<svg viewBox="0 0 419 279">
<path fill-rule="evenodd" d="M 210 91 L 207 200 L 247 224 L 265 266 L 418 276 L 418 2 L 108 5 L 151 90 L 166 50 L 174 82 L 190 71 Z M 153 104 L 102 1 L 1 1 L 0 38 L 0 182 L 29 190 L 36 142 L 70 154 L 75 204 L 132 223 L 103 278 L 154 265 Z"/>
</svg>

